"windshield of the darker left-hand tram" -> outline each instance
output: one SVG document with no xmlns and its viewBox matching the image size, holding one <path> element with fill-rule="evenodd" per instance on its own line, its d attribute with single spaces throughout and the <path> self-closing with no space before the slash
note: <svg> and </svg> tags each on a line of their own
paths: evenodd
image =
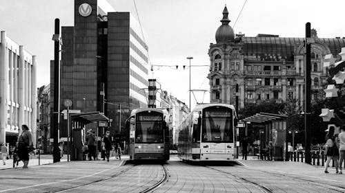
<svg viewBox="0 0 345 193">
<path fill-rule="evenodd" d="M 135 143 L 164 143 L 164 132 L 162 124 L 163 118 L 159 113 L 138 113 L 135 130 Z"/>
</svg>

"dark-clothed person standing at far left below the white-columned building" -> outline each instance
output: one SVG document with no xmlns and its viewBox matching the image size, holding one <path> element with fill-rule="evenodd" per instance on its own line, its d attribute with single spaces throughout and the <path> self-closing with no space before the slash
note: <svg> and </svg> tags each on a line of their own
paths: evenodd
<svg viewBox="0 0 345 193">
<path fill-rule="evenodd" d="M 32 144 L 32 134 L 25 124 L 21 126 L 23 132 L 18 138 L 18 157 L 23 161 L 23 168 L 28 168 L 29 163 L 29 153 L 33 148 Z"/>
</svg>

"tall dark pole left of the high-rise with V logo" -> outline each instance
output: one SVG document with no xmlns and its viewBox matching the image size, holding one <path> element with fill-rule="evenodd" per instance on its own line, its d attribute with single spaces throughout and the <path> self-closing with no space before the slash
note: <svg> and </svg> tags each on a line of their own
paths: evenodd
<svg viewBox="0 0 345 193">
<path fill-rule="evenodd" d="M 54 150 L 52 152 L 53 162 L 60 161 L 60 148 L 59 148 L 59 124 L 60 124 L 60 20 L 55 19 L 55 34 L 52 36 L 54 41 Z"/>
</svg>

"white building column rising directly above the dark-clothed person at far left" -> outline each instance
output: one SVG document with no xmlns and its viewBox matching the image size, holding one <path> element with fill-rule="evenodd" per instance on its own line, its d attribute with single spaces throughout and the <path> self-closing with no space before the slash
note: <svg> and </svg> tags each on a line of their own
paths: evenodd
<svg viewBox="0 0 345 193">
<path fill-rule="evenodd" d="M 19 46 L 19 87 L 18 87 L 18 103 L 19 103 L 19 112 L 18 112 L 18 124 L 19 130 L 21 131 L 21 126 L 25 123 L 25 95 L 24 95 L 24 82 L 25 82 L 25 61 L 24 61 L 24 49 L 23 46 Z"/>
</svg>

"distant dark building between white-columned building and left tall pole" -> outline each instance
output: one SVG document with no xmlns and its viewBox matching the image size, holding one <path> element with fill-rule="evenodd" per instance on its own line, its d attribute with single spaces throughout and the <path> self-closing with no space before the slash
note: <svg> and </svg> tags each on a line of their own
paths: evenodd
<svg viewBox="0 0 345 193">
<path fill-rule="evenodd" d="M 37 141 L 36 146 L 44 153 L 51 152 L 52 141 L 50 141 L 50 84 L 37 89 Z"/>
</svg>

